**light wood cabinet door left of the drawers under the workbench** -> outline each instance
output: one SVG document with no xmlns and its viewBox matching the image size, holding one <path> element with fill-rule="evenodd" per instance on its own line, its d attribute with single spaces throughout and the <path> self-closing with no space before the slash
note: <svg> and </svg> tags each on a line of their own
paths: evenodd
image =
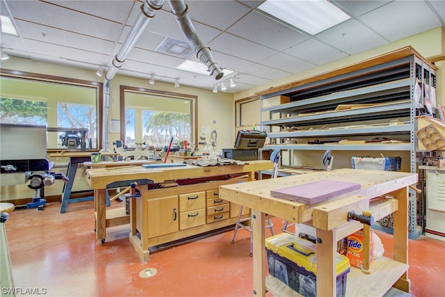
<svg viewBox="0 0 445 297">
<path fill-rule="evenodd" d="M 179 231 L 178 197 L 148 201 L 148 238 Z"/>
</svg>

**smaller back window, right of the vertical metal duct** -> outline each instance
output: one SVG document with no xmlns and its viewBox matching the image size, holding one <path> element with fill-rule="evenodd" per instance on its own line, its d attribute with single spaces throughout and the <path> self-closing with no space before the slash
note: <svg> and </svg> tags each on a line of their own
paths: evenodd
<svg viewBox="0 0 445 297">
<path fill-rule="evenodd" d="M 196 143 L 196 104 L 196 96 L 121 86 L 124 144 L 163 148 L 172 137 L 174 143 Z"/>
</svg>

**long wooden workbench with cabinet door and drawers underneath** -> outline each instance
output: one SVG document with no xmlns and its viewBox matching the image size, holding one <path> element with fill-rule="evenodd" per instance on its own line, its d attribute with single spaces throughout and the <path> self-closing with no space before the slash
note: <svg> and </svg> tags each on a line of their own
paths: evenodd
<svg viewBox="0 0 445 297">
<path fill-rule="evenodd" d="M 188 236 L 195 236 L 218 228 L 233 225 L 238 216 L 239 205 L 230 204 L 229 214 L 219 220 L 209 223 L 209 202 L 218 198 L 218 186 L 222 184 L 232 184 L 240 181 L 250 181 L 254 179 L 254 172 L 261 170 L 270 170 L 273 163 L 270 161 L 249 161 L 245 165 L 229 165 L 229 166 L 192 166 L 186 165 L 181 167 L 170 168 L 92 168 L 86 170 L 86 179 L 90 187 L 95 193 L 95 211 L 96 211 L 96 237 L 99 240 L 106 238 L 106 227 L 115 225 L 113 221 L 120 218 L 111 218 L 106 213 L 105 197 L 106 187 L 113 182 L 133 181 L 137 179 L 149 179 L 153 184 L 161 184 L 164 182 L 175 180 L 199 180 L 207 179 L 206 182 L 194 182 L 182 186 L 170 188 L 156 188 L 148 190 L 148 186 L 136 186 L 142 197 L 131 199 L 131 233 L 130 241 L 140 255 L 143 261 L 149 259 L 148 248 L 158 246 L 162 243 L 176 241 Z M 218 179 L 221 176 L 229 175 L 229 179 Z M 239 177 L 242 177 L 239 179 Z M 183 200 L 184 195 L 203 193 L 200 200 L 203 204 L 193 210 L 193 214 L 188 216 L 185 212 Z M 206 197 L 207 196 L 207 197 Z M 193 198 L 185 197 L 186 201 Z M 219 199 L 218 199 L 219 200 Z M 180 202 L 180 203 L 179 203 Z M 201 203 L 200 202 L 200 203 Z M 218 201 L 219 202 L 219 201 Z M 213 202 L 211 202 L 213 203 Z M 228 207 L 229 202 L 226 202 Z M 207 205 L 207 206 L 206 206 Z M 223 205 L 223 204 L 218 204 Z M 213 206 L 213 205 L 212 205 Z M 236 206 L 238 209 L 236 209 Z M 168 214 L 166 214 L 166 211 Z M 199 213 L 199 215 L 195 215 Z M 202 211 L 202 213 L 201 213 Z M 207 211 L 207 214 L 206 214 Z M 215 209 L 218 211 L 218 209 Z M 186 220 L 182 219 L 182 215 L 193 219 L 204 220 L 200 225 L 186 226 Z M 177 219 L 177 216 L 179 219 Z M 204 218 L 202 218 L 204 216 Z M 170 220 L 171 218 L 171 220 Z M 181 225 L 179 223 L 181 222 Z M 171 227 L 171 230 L 160 230 Z M 157 228 L 157 229 L 156 229 Z M 140 237 L 136 234 L 140 234 Z M 155 235 L 153 235 L 155 234 Z"/>
</svg>

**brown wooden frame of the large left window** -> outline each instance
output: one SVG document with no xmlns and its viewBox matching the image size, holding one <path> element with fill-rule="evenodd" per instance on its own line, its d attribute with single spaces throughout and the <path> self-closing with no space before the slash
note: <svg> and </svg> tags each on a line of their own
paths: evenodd
<svg viewBox="0 0 445 297">
<path fill-rule="evenodd" d="M 68 77 L 57 77 L 49 74 L 40 74 L 33 72 L 26 72 L 21 70 L 1 69 L 0 77 L 8 77 L 12 79 L 24 79 L 29 81 L 39 81 L 42 83 L 60 83 L 62 85 L 82 86 L 96 89 L 96 109 L 97 109 L 97 149 L 102 150 L 102 116 L 103 116 L 103 93 L 104 83 L 98 81 L 86 81 L 83 79 L 72 79 Z M 60 149 L 56 147 L 47 148 L 48 152 L 59 152 L 67 149 Z M 95 151 L 93 150 L 93 151 Z"/>
</svg>

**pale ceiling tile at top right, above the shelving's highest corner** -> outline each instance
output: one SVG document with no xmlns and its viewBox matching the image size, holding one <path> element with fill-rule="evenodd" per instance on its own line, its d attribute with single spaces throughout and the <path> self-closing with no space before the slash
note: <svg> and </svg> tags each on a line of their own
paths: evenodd
<svg viewBox="0 0 445 297">
<path fill-rule="evenodd" d="M 360 19 L 391 42 L 441 26 L 424 1 L 394 1 Z"/>
</svg>

